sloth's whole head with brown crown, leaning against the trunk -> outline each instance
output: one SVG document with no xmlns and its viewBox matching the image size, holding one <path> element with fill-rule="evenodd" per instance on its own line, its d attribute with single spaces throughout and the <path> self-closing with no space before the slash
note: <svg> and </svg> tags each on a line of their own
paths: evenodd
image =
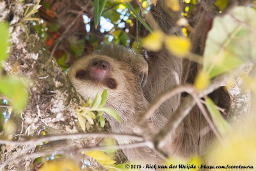
<svg viewBox="0 0 256 171">
<path fill-rule="evenodd" d="M 116 110 L 136 110 L 135 98 L 144 98 L 141 87 L 147 82 L 147 73 L 148 64 L 143 56 L 129 48 L 105 45 L 79 59 L 68 76 L 85 100 L 107 89 L 106 105 Z"/>
</svg>

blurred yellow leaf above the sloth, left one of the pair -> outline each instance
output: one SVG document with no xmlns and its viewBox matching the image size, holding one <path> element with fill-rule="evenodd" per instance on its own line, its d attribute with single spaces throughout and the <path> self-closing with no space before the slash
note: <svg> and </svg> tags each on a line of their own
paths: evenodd
<svg viewBox="0 0 256 171">
<path fill-rule="evenodd" d="M 149 34 L 143 40 L 143 45 L 149 50 L 157 51 L 162 48 L 162 40 L 164 34 L 161 31 L 156 31 L 152 34 Z"/>
</svg>

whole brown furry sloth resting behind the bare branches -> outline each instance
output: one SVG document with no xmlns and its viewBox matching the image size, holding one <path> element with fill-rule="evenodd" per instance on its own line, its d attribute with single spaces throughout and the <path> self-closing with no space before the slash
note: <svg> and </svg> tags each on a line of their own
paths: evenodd
<svg viewBox="0 0 256 171">
<path fill-rule="evenodd" d="M 180 29 L 172 29 L 179 17 L 166 13 L 162 9 L 163 5 L 159 3 L 163 4 L 163 1 L 157 1 L 157 5 L 152 6 L 150 10 L 154 19 L 164 33 L 170 34 L 170 30 L 175 30 L 172 34 L 180 35 Z M 122 119 L 122 122 L 118 123 L 113 117 L 103 115 L 109 121 L 112 132 L 140 135 L 142 132 L 137 124 L 138 116 L 145 111 L 148 103 L 152 102 L 157 95 L 183 82 L 183 66 L 183 59 L 170 54 L 164 47 L 159 52 L 148 51 L 147 57 L 143 57 L 127 47 L 104 45 L 92 55 L 79 59 L 70 68 L 68 76 L 84 99 L 93 98 L 97 93 L 102 93 L 104 89 L 108 90 L 106 106 L 116 110 Z M 214 98 L 214 96 L 223 95 L 222 89 L 216 92 L 211 95 L 215 102 L 225 99 Z M 173 96 L 148 119 L 150 131 L 153 134 L 163 128 L 183 98 L 181 94 Z M 228 106 L 228 100 L 225 103 Z M 212 131 L 203 129 L 207 126 L 198 108 L 194 107 L 170 135 L 170 140 L 163 150 L 180 157 L 203 154 L 214 138 Z M 118 144 L 133 142 L 127 138 L 116 138 L 116 140 Z M 148 147 L 122 150 L 129 161 L 145 160 L 148 163 L 156 163 L 162 160 Z"/>
</svg>

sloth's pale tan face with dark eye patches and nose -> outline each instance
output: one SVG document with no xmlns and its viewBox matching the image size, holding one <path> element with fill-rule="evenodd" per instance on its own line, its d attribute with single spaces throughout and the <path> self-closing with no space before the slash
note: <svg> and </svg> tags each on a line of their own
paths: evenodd
<svg viewBox="0 0 256 171">
<path fill-rule="evenodd" d="M 131 96 L 136 86 L 129 65 L 108 56 L 92 55 L 79 59 L 70 69 L 68 76 L 77 92 L 85 99 L 108 90 L 108 96 L 119 94 Z"/>
</svg>

